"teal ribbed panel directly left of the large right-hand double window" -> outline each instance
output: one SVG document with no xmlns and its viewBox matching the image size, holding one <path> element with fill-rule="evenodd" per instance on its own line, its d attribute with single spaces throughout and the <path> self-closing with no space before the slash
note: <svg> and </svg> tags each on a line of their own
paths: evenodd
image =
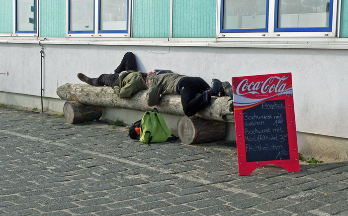
<svg viewBox="0 0 348 216">
<path fill-rule="evenodd" d="M 216 0 L 173 0 L 173 37 L 215 37 Z"/>
</svg>

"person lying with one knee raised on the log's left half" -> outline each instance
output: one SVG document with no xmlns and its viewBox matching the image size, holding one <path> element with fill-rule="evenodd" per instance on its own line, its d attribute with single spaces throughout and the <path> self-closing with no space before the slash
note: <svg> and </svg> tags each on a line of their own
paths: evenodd
<svg viewBox="0 0 348 216">
<path fill-rule="evenodd" d="M 127 52 L 115 69 L 114 74 L 102 74 L 98 78 L 89 78 L 79 73 L 78 78 L 92 86 L 110 86 L 117 97 L 129 98 L 140 90 L 147 89 L 147 73 L 138 71 L 137 62 L 132 52 Z"/>
</svg>

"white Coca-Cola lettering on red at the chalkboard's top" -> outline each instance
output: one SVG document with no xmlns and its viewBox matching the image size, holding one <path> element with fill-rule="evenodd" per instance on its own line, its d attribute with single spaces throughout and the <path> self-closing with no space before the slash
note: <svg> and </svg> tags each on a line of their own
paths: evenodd
<svg viewBox="0 0 348 216">
<path fill-rule="evenodd" d="M 268 77 L 265 81 L 251 82 L 249 83 L 248 78 L 242 80 L 237 88 L 236 94 L 243 96 L 247 94 L 271 94 L 271 93 L 282 93 L 286 91 L 286 83 L 284 81 L 289 76 L 283 77 Z"/>
</svg>

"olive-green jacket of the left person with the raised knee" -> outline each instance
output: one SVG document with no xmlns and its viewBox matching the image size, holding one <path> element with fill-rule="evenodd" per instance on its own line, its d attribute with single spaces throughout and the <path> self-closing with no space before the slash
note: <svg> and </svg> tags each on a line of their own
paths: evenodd
<svg viewBox="0 0 348 216">
<path fill-rule="evenodd" d="M 130 98 L 136 92 L 147 89 L 146 76 L 147 73 L 140 71 L 125 71 L 116 80 L 113 91 L 119 98 Z"/>
</svg>

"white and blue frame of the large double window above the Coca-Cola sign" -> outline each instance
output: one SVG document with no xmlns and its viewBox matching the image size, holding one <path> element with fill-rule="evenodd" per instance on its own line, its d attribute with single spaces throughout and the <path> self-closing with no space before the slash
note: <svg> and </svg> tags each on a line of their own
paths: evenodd
<svg viewBox="0 0 348 216">
<path fill-rule="evenodd" d="M 332 6 L 330 5 L 330 15 L 331 22 L 329 23 L 329 27 L 331 27 L 331 31 L 329 27 L 325 27 L 326 29 L 321 29 L 322 31 L 314 31 L 314 28 L 302 28 L 302 31 L 291 31 L 293 29 L 285 29 L 285 28 L 276 28 L 276 13 L 278 9 L 276 6 L 278 5 L 278 0 L 268 0 L 268 31 L 267 32 L 253 32 L 249 31 L 251 29 L 247 29 L 244 32 L 224 32 L 222 30 L 222 22 L 223 22 L 223 1 L 217 1 L 217 28 L 216 28 L 216 36 L 217 38 L 233 38 L 233 37 L 337 37 L 338 36 L 338 27 L 339 23 L 337 22 L 338 11 L 340 11 L 341 5 L 338 4 L 339 0 L 331 0 Z M 318 29 L 318 28 L 317 28 Z M 305 31 L 304 31 L 305 30 Z"/>
</svg>

